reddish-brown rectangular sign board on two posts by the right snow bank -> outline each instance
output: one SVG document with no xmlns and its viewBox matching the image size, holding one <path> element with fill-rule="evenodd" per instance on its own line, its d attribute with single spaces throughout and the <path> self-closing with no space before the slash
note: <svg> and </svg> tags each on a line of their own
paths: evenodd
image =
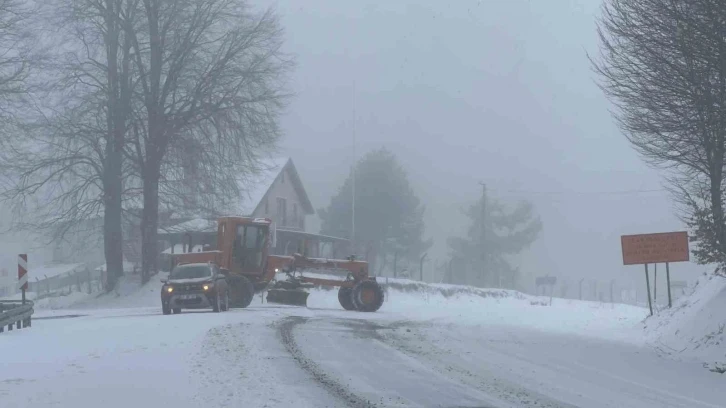
<svg viewBox="0 0 726 408">
<path fill-rule="evenodd" d="M 623 235 L 620 244 L 623 248 L 623 265 L 690 260 L 688 233 L 685 231 Z"/>
</svg>

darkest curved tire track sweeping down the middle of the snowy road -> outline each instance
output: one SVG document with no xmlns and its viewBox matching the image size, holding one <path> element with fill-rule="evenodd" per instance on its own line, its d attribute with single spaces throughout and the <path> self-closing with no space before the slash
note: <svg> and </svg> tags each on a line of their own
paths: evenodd
<svg viewBox="0 0 726 408">
<path fill-rule="evenodd" d="M 304 324 L 308 320 L 309 319 L 306 317 L 290 316 L 284 319 L 281 323 L 279 323 L 279 334 L 282 340 L 282 344 L 285 346 L 287 352 L 290 353 L 293 360 L 295 360 L 300 368 L 310 374 L 315 382 L 323 386 L 323 388 L 325 388 L 334 396 L 344 401 L 346 405 L 350 406 L 351 408 L 377 407 L 377 404 L 361 398 L 351 392 L 348 387 L 346 387 L 330 375 L 326 374 L 325 371 L 321 369 L 318 364 L 303 355 L 302 351 L 300 351 L 300 348 L 295 342 L 295 335 L 293 334 L 293 330 L 295 326 Z"/>
</svg>

